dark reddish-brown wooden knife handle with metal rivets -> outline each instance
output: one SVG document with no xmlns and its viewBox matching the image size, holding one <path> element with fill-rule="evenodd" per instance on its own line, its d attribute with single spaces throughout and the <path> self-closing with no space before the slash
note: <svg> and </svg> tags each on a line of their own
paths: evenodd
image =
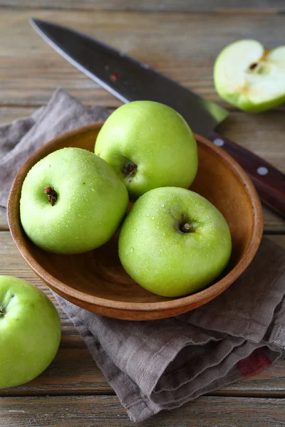
<svg viewBox="0 0 285 427">
<path fill-rule="evenodd" d="M 210 132 L 208 138 L 218 147 L 222 147 L 244 168 L 264 204 L 285 216 L 285 174 L 261 157 L 222 137 L 217 132 Z"/>
</svg>

